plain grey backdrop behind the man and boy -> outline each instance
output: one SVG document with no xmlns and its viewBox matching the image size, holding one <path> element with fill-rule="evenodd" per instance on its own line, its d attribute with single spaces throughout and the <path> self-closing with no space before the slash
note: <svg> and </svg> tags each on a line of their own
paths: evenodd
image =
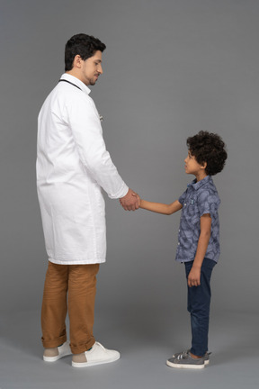
<svg viewBox="0 0 259 389">
<path fill-rule="evenodd" d="M 228 163 L 214 179 L 222 201 L 221 258 L 212 279 L 210 327 L 216 363 L 196 384 L 224 386 L 219 379 L 225 373 L 225 387 L 258 387 L 253 350 L 259 346 L 259 2 L 0 4 L 1 389 L 85 383 L 85 371 L 68 375 L 69 360 L 64 366 L 60 362 L 59 370 L 40 361 L 39 310 L 48 258 L 35 184 L 37 115 L 63 73 L 65 43 L 78 32 L 107 45 L 103 76 L 91 95 L 103 115 L 104 139 L 115 165 L 143 198 L 171 203 L 183 193 L 192 180 L 183 168 L 188 136 L 207 130 L 226 141 Z M 107 347 L 122 349 L 125 365 L 121 359 L 117 370 L 114 364 L 103 366 L 103 375 L 98 368 L 94 375 L 87 372 L 90 387 L 104 382 L 108 388 L 116 383 L 118 388 L 186 387 L 192 382 L 190 372 L 174 371 L 173 376 L 164 366 L 166 357 L 190 343 L 183 266 L 174 263 L 179 214 L 126 213 L 118 201 L 106 199 L 108 253 L 98 276 L 95 331 Z M 19 365 L 19 356 L 27 364 Z M 156 371 L 160 365 L 165 372 Z M 230 378 L 229 366 L 237 381 L 234 373 Z"/>
</svg>

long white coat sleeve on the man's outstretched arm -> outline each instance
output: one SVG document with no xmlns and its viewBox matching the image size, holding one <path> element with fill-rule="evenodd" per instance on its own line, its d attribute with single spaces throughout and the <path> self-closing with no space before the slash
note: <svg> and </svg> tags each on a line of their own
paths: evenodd
<svg viewBox="0 0 259 389">
<path fill-rule="evenodd" d="M 84 166 L 103 187 L 110 198 L 121 198 L 128 193 L 107 151 L 103 130 L 94 101 L 89 96 L 75 99 L 67 106 L 67 120 Z"/>
</svg>

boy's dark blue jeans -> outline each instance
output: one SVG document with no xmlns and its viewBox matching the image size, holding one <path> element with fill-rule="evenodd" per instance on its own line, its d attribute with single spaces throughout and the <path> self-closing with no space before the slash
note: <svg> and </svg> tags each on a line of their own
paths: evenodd
<svg viewBox="0 0 259 389">
<path fill-rule="evenodd" d="M 186 278 L 192 269 L 193 261 L 184 262 Z M 188 312 L 191 313 L 192 354 L 203 356 L 208 351 L 210 321 L 210 277 L 216 262 L 204 258 L 201 266 L 201 285 L 188 287 Z"/>
</svg>

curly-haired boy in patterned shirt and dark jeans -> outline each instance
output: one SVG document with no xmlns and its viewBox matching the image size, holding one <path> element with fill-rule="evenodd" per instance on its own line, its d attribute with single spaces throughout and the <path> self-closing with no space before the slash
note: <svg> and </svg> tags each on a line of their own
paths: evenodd
<svg viewBox="0 0 259 389">
<path fill-rule="evenodd" d="M 140 208 L 172 214 L 182 209 L 176 261 L 185 265 L 188 284 L 188 312 L 191 313 L 192 348 L 174 354 L 166 365 L 203 368 L 209 364 L 210 276 L 219 259 L 220 204 L 211 176 L 219 173 L 227 159 L 225 143 L 219 135 L 200 131 L 187 139 L 185 172 L 195 179 L 179 200 L 172 204 L 141 200 Z"/>
</svg>

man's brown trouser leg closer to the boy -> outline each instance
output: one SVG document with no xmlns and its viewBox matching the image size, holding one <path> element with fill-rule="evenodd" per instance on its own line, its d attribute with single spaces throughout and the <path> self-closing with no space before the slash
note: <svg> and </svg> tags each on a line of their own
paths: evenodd
<svg viewBox="0 0 259 389">
<path fill-rule="evenodd" d="M 70 346 L 73 354 L 81 354 L 95 343 L 94 300 L 99 264 L 69 265 L 68 315 Z"/>
</svg>

